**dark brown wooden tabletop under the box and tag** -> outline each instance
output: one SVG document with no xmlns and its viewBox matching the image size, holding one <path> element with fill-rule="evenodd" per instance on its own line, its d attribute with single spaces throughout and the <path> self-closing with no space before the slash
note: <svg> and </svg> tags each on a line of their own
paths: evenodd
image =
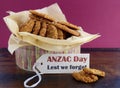
<svg viewBox="0 0 120 88">
<path fill-rule="evenodd" d="M 120 88 L 120 50 L 83 49 L 82 52 L 90 53 L 91 67 L 105 71 L 105 78 L 85 84 L 74 80 L 71 74 L 42 75 L 43 80 L 36 88 Z M 7 49 L 0 49 L 0 88 L 24 88 L 24 80 L 32 75 L 33 72 L 16 66 L 14 55 Z"/>
</svg>

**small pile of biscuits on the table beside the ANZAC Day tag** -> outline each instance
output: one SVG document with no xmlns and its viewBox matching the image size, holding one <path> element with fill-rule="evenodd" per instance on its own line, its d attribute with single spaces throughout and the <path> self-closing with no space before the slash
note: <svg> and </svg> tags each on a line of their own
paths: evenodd
<svg viewBox="0 0 120 88">
<path fill-rule="evenodd" d="M 98 77 L 105 77 L 105 72 L 93 68 L 84 68 L 80 72 L 73 72 L 72 76 L 77 81 L 82 81 L 85 83 L 93 83 L 98 80 Z"/>
</svg>

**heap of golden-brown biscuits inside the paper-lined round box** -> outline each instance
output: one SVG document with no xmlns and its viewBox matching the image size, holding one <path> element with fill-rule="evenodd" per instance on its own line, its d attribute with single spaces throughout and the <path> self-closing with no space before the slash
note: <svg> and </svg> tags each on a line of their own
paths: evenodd
<svg viewBox="0 0 120 88">
<path fill-rule="evenodd" d="M 29 10 L 30 19 L 20 26 L 20 32 L 29 32 L 42 37 L 66 39 L 70 36 L 80 36 L 80 28 L 69 22 L 58 22 L 47 14 Z"/>
</svg>

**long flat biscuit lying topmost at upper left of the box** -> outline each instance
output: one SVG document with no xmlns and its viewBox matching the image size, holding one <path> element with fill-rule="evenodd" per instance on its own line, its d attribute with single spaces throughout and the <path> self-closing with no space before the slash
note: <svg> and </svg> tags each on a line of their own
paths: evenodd
<svg viewBox="0 0 120 88">
<path fill-rule="evenodd" d="M 47 20 L 55 21 L 54 18 L 52 18 L 51 16 L 49 16 L 49 15 L 47 15 L 47 14 L 40 13 L 40 12 L 37 12 L 37 11 L 35 11 L 35 10 L 29 10 L 29 12 L 32 13 L 33 15 L 36 15 L 36 16 L 45 18 L 45 19 L 47 19 Z"/>
</svg>

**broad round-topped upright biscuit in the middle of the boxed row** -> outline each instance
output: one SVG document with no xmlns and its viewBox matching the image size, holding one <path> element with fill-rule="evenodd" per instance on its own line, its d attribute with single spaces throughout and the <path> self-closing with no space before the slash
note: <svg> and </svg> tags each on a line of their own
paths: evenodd
<svg viewBox="0 0 120 88">
<path fill-rule="evenodd" d="M 58 38 L 57 28 L 54 25 L 49 24 L 47 26 L 46 36 L 49 38 L 57 39 Z"/>
</svg>

